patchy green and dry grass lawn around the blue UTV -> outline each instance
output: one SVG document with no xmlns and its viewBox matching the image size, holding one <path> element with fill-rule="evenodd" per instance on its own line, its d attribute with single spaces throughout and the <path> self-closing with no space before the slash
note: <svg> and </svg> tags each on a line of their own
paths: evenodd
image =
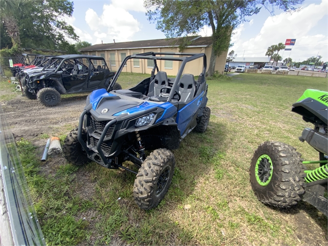
<svg viewBox="0 0 328 246">
<path fill-rule="evenodd" d="M 135 85 L 140 77 L 144 75 L 122 74 L 122 88 Z M 325 242 L 325 216 L 305 202 L 288 211 L 264 206 L 251 190 L 249 167 L 254 150 L 266 140 L 295 146 L 304 160 L 318 159 L 316 151 L 298 140 L 302 129 L 311 124 L 292 113 L 291 107 L 305 89 L 326 90 L 327 80 L 240 74 L 214 78 L 208 84 L 209 128 L 203 134 L 190 133 L 174 151 L 172 185 L 151 211 L 140 210 L 133 200 L 133 174 L 94 162 L 81 168 L 65 162 L 44 166 L 31 142 L 19 141 L 47 244 L 305 243 L 298 235 L 306 237 L 306 243 Z M 68 133 L 69 128 L 58 132 Z M 304 221 L 312 229 L 300 227 Z"/>
</svg>

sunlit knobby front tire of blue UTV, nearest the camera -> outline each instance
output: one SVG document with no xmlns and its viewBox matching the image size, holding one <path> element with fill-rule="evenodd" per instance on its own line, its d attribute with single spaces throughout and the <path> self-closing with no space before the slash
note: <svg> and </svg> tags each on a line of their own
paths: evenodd
<svg viewBox="0 0 328 246">
<path fill-rule="evenodd" d="M 133 186 L 133 197 L 140 209 L 155 208 L 167 193 L 174 173 L 171 151 L 157 149 L 142 163 Z"/>
</svg>

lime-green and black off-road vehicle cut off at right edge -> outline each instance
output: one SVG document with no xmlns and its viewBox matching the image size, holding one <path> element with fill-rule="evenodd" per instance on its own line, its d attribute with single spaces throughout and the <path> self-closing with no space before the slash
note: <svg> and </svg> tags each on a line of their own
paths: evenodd
<svg viewBox="0 0 328 246">
<path fill-rule="evenodd" d="M 319 90 L 306 90 L 292 108 L 314 125 L 314 129 L 305 128 L 299 140 L 317 150 L 319 160 L 302 161 L 294 147 L 282 142 L 267 141 L 258 146 L 251 162 L 250 181 L 261 202 L 290 208 L 303 200 L 327 216 L 327 109 L 328 92 Z M 305 170 L 304 164 L 310 163 L 319 163 L 320 167 Z"/>
</svg>

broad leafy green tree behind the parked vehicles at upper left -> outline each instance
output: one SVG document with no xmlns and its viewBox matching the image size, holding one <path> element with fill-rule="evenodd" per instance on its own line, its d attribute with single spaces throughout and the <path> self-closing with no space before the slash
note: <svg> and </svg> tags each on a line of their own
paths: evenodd
<svg viewBox="0 0 328 246">
<path fill-rule="evenodd" d="M 3 7 L 4 2 L 10 6 L 10 12 L 8 12 L 8 7 Z M 22 4 L 10 5 L 9 3 L 12 2 L 22 2 Z M 17 30 L 21 47 L 64 49 L 68 47 L 69 39 L 78 40 L 73 27 L 64 20 L 65 17 L 73 14 L 73 2 L 69 0 L 1 0 L 1 4 L 2 18 L 10 13 L 16 20 L 15 30 Z M 5 23 L 4 27 L 9 34 Z M 12 39 L 11 43 L 15 45 L 17 41 Z M 4 45 L 1 40 L 1 47 Z"/>
</svg>

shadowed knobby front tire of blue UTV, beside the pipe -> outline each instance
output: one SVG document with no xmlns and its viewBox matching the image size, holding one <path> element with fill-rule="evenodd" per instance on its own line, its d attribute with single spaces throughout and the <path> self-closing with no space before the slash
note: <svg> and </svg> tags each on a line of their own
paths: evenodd
<svg viewBox="0 0 328 246">
<path fill-rule="evenodd" d="M 87 141 L 87 134 L 84 129 L 82 130 L 82 138 Z M 75 166 L 83 166 L 91 161 L 77 139 L 77 128 L 72 130 L 64 140 L 63 152 L 66 160 Z"/>
</svg>

